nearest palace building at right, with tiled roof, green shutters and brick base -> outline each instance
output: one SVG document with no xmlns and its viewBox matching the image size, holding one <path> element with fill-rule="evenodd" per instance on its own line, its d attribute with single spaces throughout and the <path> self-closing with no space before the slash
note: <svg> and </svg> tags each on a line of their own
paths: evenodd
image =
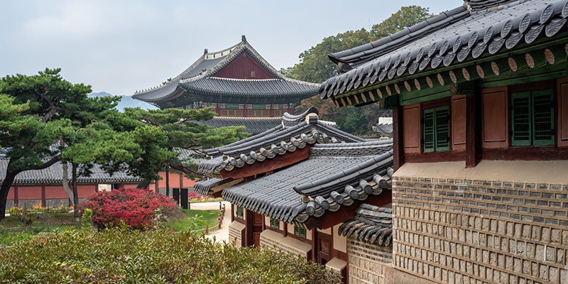
<svg viewBox="0 0 568 284">
<path fill-rule="evenodd" d="M 567 18 L 469 0 L 329 55 L 322 99 L 393 110 L 386 283 L 568 283 Z"/>
</svg>

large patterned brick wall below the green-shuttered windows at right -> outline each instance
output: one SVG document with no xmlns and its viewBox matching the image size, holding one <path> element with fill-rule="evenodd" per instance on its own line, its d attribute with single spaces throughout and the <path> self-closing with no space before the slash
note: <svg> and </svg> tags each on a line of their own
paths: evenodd
<svg viewBox="0 0 568 284">
<path fill-rule="evenodd" d="M 568 283 L 568 185 L 393 178 L 393 267 L 439 283 Z"/>
</svg>

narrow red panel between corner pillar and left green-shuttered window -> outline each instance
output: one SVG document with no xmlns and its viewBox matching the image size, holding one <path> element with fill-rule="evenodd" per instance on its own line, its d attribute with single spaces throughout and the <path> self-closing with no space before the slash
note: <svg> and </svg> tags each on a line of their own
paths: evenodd
<svg viewBox="0 0 568 284">
<path fill-rule="evenodd" d="M 410 104 L 403 109 L 404 153 L 420 153 L 420 104 Z"/>
</svg>

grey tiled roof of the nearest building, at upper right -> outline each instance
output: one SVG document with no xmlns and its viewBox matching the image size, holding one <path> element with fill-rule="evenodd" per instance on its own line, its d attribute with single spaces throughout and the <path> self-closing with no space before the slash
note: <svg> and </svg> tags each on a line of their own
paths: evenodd
<svg viewBox="0 0 568 284">
<path fill-rule="evenodd" d="M 468 1 L 387 38 L 329 55 L 334 62 L 348 63 L 353 69 L 322 83 L 320 97 L 336 97 L 360 87 L 473 62 L 503 47 L 514 50 L 522 42 L 530 44 L 542 36 L 557 35 L 567 17 L 566 0 Z"/>
</svg>

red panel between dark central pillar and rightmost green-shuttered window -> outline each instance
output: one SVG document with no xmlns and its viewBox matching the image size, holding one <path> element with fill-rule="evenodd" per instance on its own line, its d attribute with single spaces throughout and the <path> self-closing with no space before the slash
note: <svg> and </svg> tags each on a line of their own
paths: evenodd
<svg viewBox="0 0 568 284">
<path fill-rule="evenodd" d="M 481 110 L 483 111 L 484 148 L 502 148 L 509 146 L 507 88 L 484 89 Z"/>
</svg>

